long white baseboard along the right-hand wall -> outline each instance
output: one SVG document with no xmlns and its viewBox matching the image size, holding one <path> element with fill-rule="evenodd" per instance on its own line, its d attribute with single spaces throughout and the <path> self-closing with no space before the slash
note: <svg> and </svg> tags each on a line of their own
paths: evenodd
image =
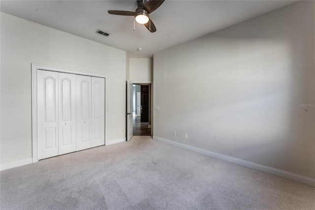
<svg viewBox="0 0 315 210">
<path fill-rule="evenodd" d="M 297 174 L 293 174 L 291 172 L 286 172 L 286 171 L 283 171 L 283 170 L 280 170 L 280 169 L 275 169 L 275 168 L 271 168 L 271 167 L 268 167 L 268 166 L 260 165 L 260 164 L 257 164 L 257 163 L 252 163 L 250 161 L 246 161 L 246 160 L 230 157 L 230 156 L 227 156 L 227 155 L 222 155 L 222 154 L 219 154 L 219 153 L 216 153 L 216 152 L 211 152 L 209 150 L 200 149 L 198 147 L 190 146 L 188 144 L 180 143 L 180 142 L 177 142 L 177 141 L 167 140 L 167 139 L 159 138 L 159 137 L 156 137 L 156 136 L 153 136 L 153 139 L 161 141 L 161 142 L 164 142 L 164 143 L 167 143 L 167 144 L 171 144 L 173 146 L 178 146 L 178 147 L 181 147 L 181 148 L 184 148 L 184 149 L 188 149 L 190 151 L 194 151 L 194 152 L 197 152 L 197 153 L 208 155 L 210 157 L 214 157 L 214 158 L 217 158 L 217 159 L 220 159 L 220 160 L 224 160 L 224 161 L 227 161 L 227 162 L 231 162 L 231 163 L 235 163 L 235 164 L 238 164 L 238 165 L 241 165 L 241 166 L 245 166 L 247 168 L 251 168 L 251 169 L 254 169 L 254 170 L 257 170 L 257 171 L 260 171 L 260 172 L 264 172 L 264 173 L 267 173 L 267 174 L 280 176 L 280 177 L 283 177 L 283 178 L 286 178 L 286 179 L 290 179 L 290 180 L 293 180 L 293 181 L 296 181 L 296 182 L 300 182 L 302 184 L 306 184 L 306 185 L 310 185 L 310 186 L 315 187 L 315 179 L 314 178 L 310 178 L 310 177 L 303 176 L 303 175 L 297 175 Z"/>
</svg>

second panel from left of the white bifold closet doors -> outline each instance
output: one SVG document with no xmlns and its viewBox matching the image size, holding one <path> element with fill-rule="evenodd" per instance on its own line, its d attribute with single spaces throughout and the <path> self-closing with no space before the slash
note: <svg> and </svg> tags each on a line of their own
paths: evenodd
<svg viewBox="0 0 315 210">
<path fill-rule="evenodd" d="M 76 150 L 76 76 L 59 73 L 59 155 Z"/>
</svg>

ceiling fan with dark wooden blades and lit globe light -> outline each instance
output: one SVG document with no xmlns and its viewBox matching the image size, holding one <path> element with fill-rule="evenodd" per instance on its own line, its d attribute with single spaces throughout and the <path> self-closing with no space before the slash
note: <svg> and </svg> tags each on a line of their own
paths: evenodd
<svg viewBox="0 0 315 210">
<path fill-rule="evenodd" d="M 157 31 L 157 28 L 149 18 L 149 14 L 156 10 L 163 2 L 164 0 L 137 0 L 138 7 L 135 12 L 108 10 L 108 13 L 112 15 L 134 16 L 137 23 L 144 24 L 150 32 L 154 33 Z"/>
</svg>

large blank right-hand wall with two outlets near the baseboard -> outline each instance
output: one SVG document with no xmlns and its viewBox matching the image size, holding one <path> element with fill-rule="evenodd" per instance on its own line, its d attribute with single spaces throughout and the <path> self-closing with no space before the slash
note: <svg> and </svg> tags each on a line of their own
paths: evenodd
<svg viewBox="0 0 315 210">
<path fill-rule="evenodd" d="M 156 53 L 154 136 L 315 178 L 315 107 L 298 106 L 315 103 L 314 10 L 300 1 Z"/>
</svg>

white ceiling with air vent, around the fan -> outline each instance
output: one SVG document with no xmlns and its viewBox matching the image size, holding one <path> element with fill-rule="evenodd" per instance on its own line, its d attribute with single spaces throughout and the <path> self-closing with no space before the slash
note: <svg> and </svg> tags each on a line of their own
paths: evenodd
<svg viewBox="0 0 315 210">
<path fill-rule="evenodd" d="M 149 32 L 133 17 L 107 10 L 136 9 L 136 0 L 1 0 L 2 12 L 78 35 L 129 52 L 152 57 L 177 44 L 219 31 L 296 0 L 165 0 L 150 18 L 157 32 Z M 108 37 L 96 34 L 101 29 Z M 142 47 L 142 51 L 137 51 Z"/>
</svg>

